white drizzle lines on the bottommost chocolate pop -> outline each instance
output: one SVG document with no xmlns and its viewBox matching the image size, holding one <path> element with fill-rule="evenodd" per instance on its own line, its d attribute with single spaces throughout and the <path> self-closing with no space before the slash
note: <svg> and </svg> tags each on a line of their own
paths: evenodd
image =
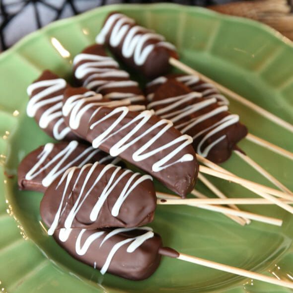
<svg viewBox="0 0 293 293">
<path fill-rule="evenodd" d="M 115 253 L 123 246 L 129 243 L 129 245 L 126 248 L 126 252 L 127 253 L 132 253 L 134 252 L 137 248 L 139 248 L 147 239 L 150 239 L 154 236 L 153 230 L 150 227 L 134 227 L 134 228 L 116 228 L 113 229 L 111 232 L 107 233 L 106 231 L 92 231 L 92 234 L 90 234 L 85 241 L 83 241 L 83 245 L 81 245 L 81 241 L 84 240 L 82 239 L 84 232 L 86 231 L 86 229 L 82 229 L 77 238 L 76 238 L 76 242 L 75 242 L 75 252 L 76 254 L 82 256 L 85 255 L 86 252 L 88 251 L 89 247 L 94 243 L 94 241 L 98 238 L 100 238 L 101 236 L 104 236 L 102 242 L 100 243 L 99 246 L 96 246 L 96 249 L 100 249 L 104 243 L 107 242 L 107 240 L 109 240 L 110 238 L 114 237 L 115 235 L 119 234 L 119 233 L 125 233 L 125 232 L 129 232 L 129 231 L 133 231 L 133 230 L 143 230 L 146 231 L 145 233 L 141 234 L 141 235 L 137 235 L 134 237 L 129 237 L 129 238 L 125 238 L 122 241 L 119 241 L 117 243 L 115 243 L 111 250 L 109 251 L 109 254 L 107 255 L 106 261 L 104 263 L 104 265 L 102 266 L 100 272 L 102 275 L 104 275 L 110 264 L 111 261 L 115 255 Z M 72 229 L 60 229 L 59 231 L 59 239 L 63 242 L 66 242 L 66 240 L 68 239 L 68 237 L 70 236 Z M 106 234 L 107 233 L 107 234 Z M 106 235 L 105 235 L 106 234 Z M 64 237 L 64 235 L 66 235 L 66 237 Z M 94 268 L 96 267 L 96 262 L 94 262 Z"/>
</svg>

